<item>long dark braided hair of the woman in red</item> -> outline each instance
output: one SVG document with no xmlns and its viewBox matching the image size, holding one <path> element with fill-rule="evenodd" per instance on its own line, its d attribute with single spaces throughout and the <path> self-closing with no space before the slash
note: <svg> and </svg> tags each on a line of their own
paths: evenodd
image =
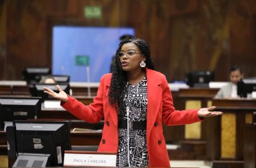
<svg viewBox="0 0 256 168">
<path fill-rule="evenodd" d="M 146 67 L 152 70 L 155 70 L 154 64 L 151 60 L 150 48 L 149 44 L 143 39 L 137 39 L 135 37 L 131 37 L 125 39 L 119 43 L 119 47 L 117 48 L 117 52 L 115 53 L 115 60 L 113 63 L 112 69 L 112 78 L 109 90 L 109 103 L 112 106 L 115 106 L 117 109 L 123 105 L 123 98 L 125 96 L 126 84 L 127 84 L 127 76 L 126 72 L 123 71 L 121 62 L 119 57 L 117 56 L 118 52 L 121 50 L 121 47 L 125 43 L 134 43 L 140 50 L 141 54 L 143 54 L 146 58 L 145 63 Z"/>
</svg>

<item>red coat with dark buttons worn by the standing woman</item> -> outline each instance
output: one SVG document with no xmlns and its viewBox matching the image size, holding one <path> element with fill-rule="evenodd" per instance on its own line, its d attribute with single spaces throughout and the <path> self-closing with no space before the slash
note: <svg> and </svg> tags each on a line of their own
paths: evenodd
<svg viewBox="0 0 256 168">
<path fill-rule="evenodd" d="M 197 110 L 178 111 L 164 74 L 147 69 L 147 150 L 150 167 L 170 167 L 169 156 L 163 137 L 162 124 L 177 126 L 201 121 Z M 63 108 L 85 122 L 100 122 L 104 117 L 103 133 L 98 151 L 114 151 L 118 148 L 117 110 L 109 104 L 107 95 L 112 74 L 101 78 L 93 103 L 85 106 L 69 96 Z"/>
</svg>

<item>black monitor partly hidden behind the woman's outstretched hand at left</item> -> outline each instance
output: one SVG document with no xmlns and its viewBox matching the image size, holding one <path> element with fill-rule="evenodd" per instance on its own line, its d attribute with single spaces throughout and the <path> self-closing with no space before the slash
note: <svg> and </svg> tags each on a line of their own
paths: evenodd
<svg viewBox="0 0 256 168">
<path fill-rule="evenodd" d="M 64 92 L 69 94 L 69 90 L 70 90 L 69 84 L 63 83 L 63 84 L 59 84 L 59 86 L 61 87 L 61 89 Z M 59 92 L 59 90 L 56 87 L 56 84 L 33 84 L 32 86 L 30 86 L 29 92 L 30 92 L 31 96 L 38 96 L 38 97 L 41 97 L 43 100 L 53 99 L 53 98 L 51 98 L 51 96 L 49 96 L 48 94 L 45 94 L 45 92 L 43 92 L 44 87 L 50 88 L 51 90 L 53 90 L 57 93 Z"/>
</svg>

